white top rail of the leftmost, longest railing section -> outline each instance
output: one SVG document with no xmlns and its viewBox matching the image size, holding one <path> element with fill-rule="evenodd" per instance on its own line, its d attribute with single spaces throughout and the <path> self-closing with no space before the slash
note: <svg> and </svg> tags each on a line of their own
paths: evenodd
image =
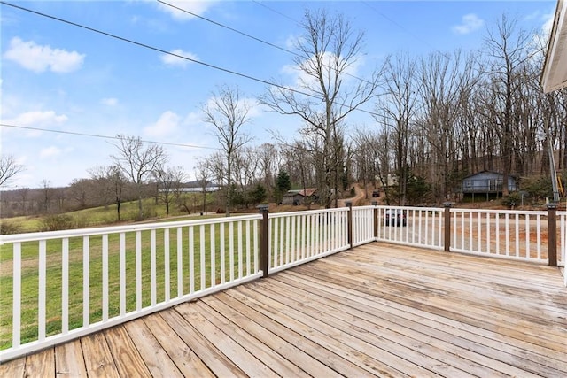
<svg viewBox="0 0 567 378">
<path fill-rule="evenodd" d="M 105 234 L 119 234 L 122 232 L 148 231 L 152 229 L 179 228 L 236 222 L 239 220 L 260 220 L 261 214 L 241 215 L 237 217 L 208 218 L 203 220 L 178 220 L 172 222 L 142 223 L 125 226 L 111 226 L 105 228 L 79 228 L 49 232 L 33 232 L 27 234 L 0 235 L 0 245 L 4 243 L 22 243 L 37 240 L 62 239 L 66 237 L 80 237 Z"/>
</svg>

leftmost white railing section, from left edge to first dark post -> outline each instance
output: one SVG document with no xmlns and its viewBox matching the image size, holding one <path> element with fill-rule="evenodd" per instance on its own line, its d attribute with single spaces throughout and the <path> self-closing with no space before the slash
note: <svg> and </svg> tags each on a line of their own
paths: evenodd
<svg viewBox="0 0 567 378">
<path fill-rule="evenodd" d="M 3 256 L 12 250 L 2 336 L 12 343 L 0 362 L 260 277 L 260 218 L 2 236 Z M 30 275 L 35 289 L 22 286 Z"/>
</svg>

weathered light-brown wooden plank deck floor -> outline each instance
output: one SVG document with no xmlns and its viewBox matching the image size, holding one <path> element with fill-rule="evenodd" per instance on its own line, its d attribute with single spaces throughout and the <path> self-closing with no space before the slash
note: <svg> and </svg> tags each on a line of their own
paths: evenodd
<svg viewBox="0 0 567 378">
<path fill-rule="evenodd" d="M 557 268 L 370 243 L 0 366 L 24 376 L 567 376 Z"/>
</svg>

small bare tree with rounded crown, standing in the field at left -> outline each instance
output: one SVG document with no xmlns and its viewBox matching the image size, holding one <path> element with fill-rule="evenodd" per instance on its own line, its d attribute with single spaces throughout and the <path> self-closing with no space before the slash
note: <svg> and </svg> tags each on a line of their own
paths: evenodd
<svg viewBox="0 0 567 378">
<path fill-rule="evenodd" d="M 114 144 L 118 149 L 118 155 L 113 155 L 116 166 L 136 184 L 138 197 L 138 217 L 142 219 L 142 197 L 145 181 L 155 172 L 159 166 L 167 161 L 167 153 L 163 147 L 157 144 L 145 146 L 139 136 L 117 135 L 118 143 Z"/>
</svg>

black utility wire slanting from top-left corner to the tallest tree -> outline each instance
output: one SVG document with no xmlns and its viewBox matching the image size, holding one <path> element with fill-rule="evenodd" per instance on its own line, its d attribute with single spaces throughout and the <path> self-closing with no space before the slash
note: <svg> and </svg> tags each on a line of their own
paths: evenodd
<svg viewBox="0 0 567 378">
<path fill-rule="evenodd" d="M 288 90 L 288 91 L 290 91 L 290 92 L 294 92 L 294 93 L 297 93 L 297 94 L 299 94 L 299 95 L 303 95 L 303 96 L 307 96 L 307 97 L 312 97 L 312 98 L 315 98 L 315 99 L 317 99 L 317 100 L 320 100 L 320 98 L 319 98 L 318 96 L 315 96 L 315 95 L 313 95 L 313 94 L 311 94 L 311 93 L 303 92 L 303 91 L 298 90 L 298 89 L 292 89 L 292 88 L 289 88 L 289 87 L 285 87 L 285 86 L 283 86 L 283 85 L 276 84 L 275 82 L 267 81 L 267 80 L 264 80 L 264 79 L 259 79 L 259 78 L 256 78 L 256 77 L 254 77 L 254 76 L 251 76 L 251 75 L 248 75 L 248 74 L 245 74 L 245 73 L 238 73 L 238 72 L 236 72 L 236 71 L 232 71 L 232 70 L 229 70 L 228 68 L 223 68 L 223 67 L 221 67 L 221 66 L 214 66 L 214 65 L 212 65 L 212 64 L 209 64 L 209 63 L 206 63 L 206 62 L 202 62 L 202 61 L 197 60 L 197 59 L 188 58 L 188 57 L 185 57 L 185 56 L 180 55 L 180 54 L 175 54 L 174 52 L 170 52 L 170 51 L 167 51 L 167 50 L 163 50 L 163 49 L 160 49 L 160 48 L 158 48 L 158 47 L 151 46 L 151 45 L 146 44 L 146 43 L 136 42 L 136 41 L 134 41 L 134 40 L 131 40 L 131 39 L 128 39 L 128 38 L 125 38 L 125 37 L 121 37 L 120 35 L 113 35 L 112 33 L 108 33 L 108 32 L 105 32 L 105 31 L 103 31 L 103 30 L 96 29 L 96 28 L 94 28 L 94 27 L 87 27 L 87 26 L 85 26 L 85 25 L 78 24 L 78 23 L 73 22 L 73 21 L 69 21 L 69 20 L 67 20 L 67 19 L 61 19 L 61 18 L 58 18 L 58 17 L 56 17 L 56 16 L 52 16 L 52 15 L 50 15 L 50 14 L 46 14 L 46 13 L 43 13 L 43 12 L 37 12 L 37 11 L 34 11 L 34 10 L 32 10 L 32 9 L 29 9 L 29 8 L 26 8 L 26 7 L 23 7 L 23 6 L 20 6 L 20 5 L 7 3 L 7 2 L 5 2 L 5 1 L 0 1 L 0 4 L 4 4 L 4 5 L 7 5 L 7 6 L 11 6 L 12 8 L 16 8 L 16 9 L 19 9 L 19 10 L 21 10 L 21 11 L 34 13 L 34 14 L 36 14 L 36 15 L 38 15 L 38 16 L 42 16 L 42 17 L 45 17 L 45 18 L 48 18 L 48 19 L 54 19 L 54 20 L 56 20 L 56 21 L 66 23 L 66 24 L 68 24 L 68 25 L 72 25 L 72 26 L 74 26 L 74 27 L 81 27 L 82 29 L 89 30 L 89 31 L 91 31 L 91 32 L 93 32 L 93 33 L 97 33 L 97 34 L 100 34 L 100 35 L 105 35 L 105 36 L 108 36 L 108 37 L 111 37 L 111 38 L 120 40 L 120 41 L 122 41 L 122 42 L 132 43 L 132 44 L 135 44 L 136 46 L 144 47 L 145 49 L 154 50 L 154 51 L 161 52 L 162 54 L 167 54 L 167 55 L 170 55 L 170 56 L 173 56 L 173 57 L 176 57 L 176 58 L 182 58 L 182 59 L 185 59 L 185 60 L 189 60 L 190 62 L 196 63 L 196 64 L 198 64 L 198 65 L 206 66 L 206 67 L 209 67 L 209 68 L 213 68 L 213 69 L 215 69 L 215 70 L 218 70 L 218 71 L 221 71 L 221 72 L 224 72 L 224 73 L 230 73 L 230 74 L 233 74 L 233 75 L 236 75 L 236 76 L 240 76 L 240 77 L 243 77 L 243 78 L 248 79 L 248 80 L 251 80 L 251 81 L 260 82 L 260 83 L 262 83 L 262 84 L 266 84 L 266 85 L 271 86 L 271 87 L 276 87 L 276 88 L 279 88 L 279 89 Z M 346 104 L 338 104 L 338 105 L 347 106 Z M 366 112 L 366 113 L 368 113 L 368 114 L 370 114 L 370 115 L 374 115 L 374 116 L 377 116 L 377 115 L 378 115 L 376 112 L 370 112 L 370 111 L 366 111 L 366 110 L 363 110 L 363 109 L 360 109 L 360 108 L 356 108 L 355 110 L 356 110 L 356 111 L 359 111 L 359 112 Z"/>
</svg>

